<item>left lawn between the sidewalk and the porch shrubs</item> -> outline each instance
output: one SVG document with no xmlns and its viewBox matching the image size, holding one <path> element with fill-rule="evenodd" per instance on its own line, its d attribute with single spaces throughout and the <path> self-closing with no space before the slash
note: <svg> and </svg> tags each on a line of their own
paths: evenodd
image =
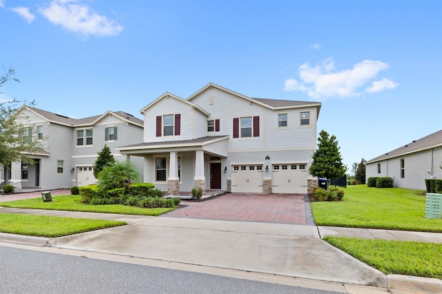
<svg viewBox="0 0 442 294">
<path fill-rule="evenodd" d="M 1 197 L 0 197 L 1 199 Z M 81 203 L 79 195 L 59 195 L 53 196 L 52 202 L 43 202 L 43 199 L 32 198 L 15 200 L 10 202 L 0 202 L 3 207 L 15 208 L 32 208 L 32 209 L 48 209 L 48 210 L 68 210 L 68 211 L 84 211 L 88 213 L 117 213 L 124 215 L 151 215 L 158 216 L 175 208 L 140 208 L 135 206 L 126 206 L 119 204 L 108 205 L 89 205 Z"/>
</svg>

